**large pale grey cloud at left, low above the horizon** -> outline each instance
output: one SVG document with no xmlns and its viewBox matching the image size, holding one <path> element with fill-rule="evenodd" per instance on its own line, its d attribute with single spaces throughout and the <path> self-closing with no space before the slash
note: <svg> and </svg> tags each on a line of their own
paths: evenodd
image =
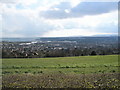
<svg viewBox="0 0 120 90">
<path fill-rule="evenodd" d="M 28 17 L 19 14 L 3 14 L 3 34 L 19 34 L 21 36 L 42 36 L 54 26 L 43 20 L 31 21 Z M 4 36 L 4 35 L 3 35 Z"/>
</svg>

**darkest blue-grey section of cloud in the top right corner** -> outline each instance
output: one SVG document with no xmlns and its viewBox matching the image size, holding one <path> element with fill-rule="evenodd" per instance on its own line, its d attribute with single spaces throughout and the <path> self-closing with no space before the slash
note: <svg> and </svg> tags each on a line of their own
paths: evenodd
<svg viewBox="0 0 120 90">
<path fill-rule="evenodd" d="M 82 2 L 72 8 L 72 12 L 80 15 L 95 15 L 107 13 L 116 9 L 117 2 Z"/>
</svg>

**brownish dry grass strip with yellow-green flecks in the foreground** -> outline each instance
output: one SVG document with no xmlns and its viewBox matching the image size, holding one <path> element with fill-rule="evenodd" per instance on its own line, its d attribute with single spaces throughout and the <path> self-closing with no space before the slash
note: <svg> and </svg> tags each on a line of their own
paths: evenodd
<svg viewBox="0 0 120 90">
<path fill-rule="evenodd" d="M 118 73 L 12 74 L 3 76 L 3 88 L 120 88 Z"/>
</svg>

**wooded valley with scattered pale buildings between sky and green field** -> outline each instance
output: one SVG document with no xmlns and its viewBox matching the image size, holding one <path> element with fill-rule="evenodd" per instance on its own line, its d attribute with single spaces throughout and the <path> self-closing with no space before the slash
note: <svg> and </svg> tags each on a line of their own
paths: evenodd
<svg viewBox="0 0 120 90">
<path fill-rule="evenodd" d="M 118 37 L 40 38 L 2 41 L 2 58 L 43 58 L 119 54 Z"/>
</svg>

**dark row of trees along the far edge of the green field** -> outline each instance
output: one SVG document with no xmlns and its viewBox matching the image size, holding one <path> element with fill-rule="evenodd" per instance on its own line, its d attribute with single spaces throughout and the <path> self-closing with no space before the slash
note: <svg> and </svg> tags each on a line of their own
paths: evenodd
<svg viewBox="0 0 120 90">
<path fill-rule="evenodd" d="M 2 58 L 45 58 L 45 57 L 70 57 L 119 54 L 117 48 L 75 48 L 61 50 L 40 51 L 9 51 L 2 50 Z"/>
</svg>

